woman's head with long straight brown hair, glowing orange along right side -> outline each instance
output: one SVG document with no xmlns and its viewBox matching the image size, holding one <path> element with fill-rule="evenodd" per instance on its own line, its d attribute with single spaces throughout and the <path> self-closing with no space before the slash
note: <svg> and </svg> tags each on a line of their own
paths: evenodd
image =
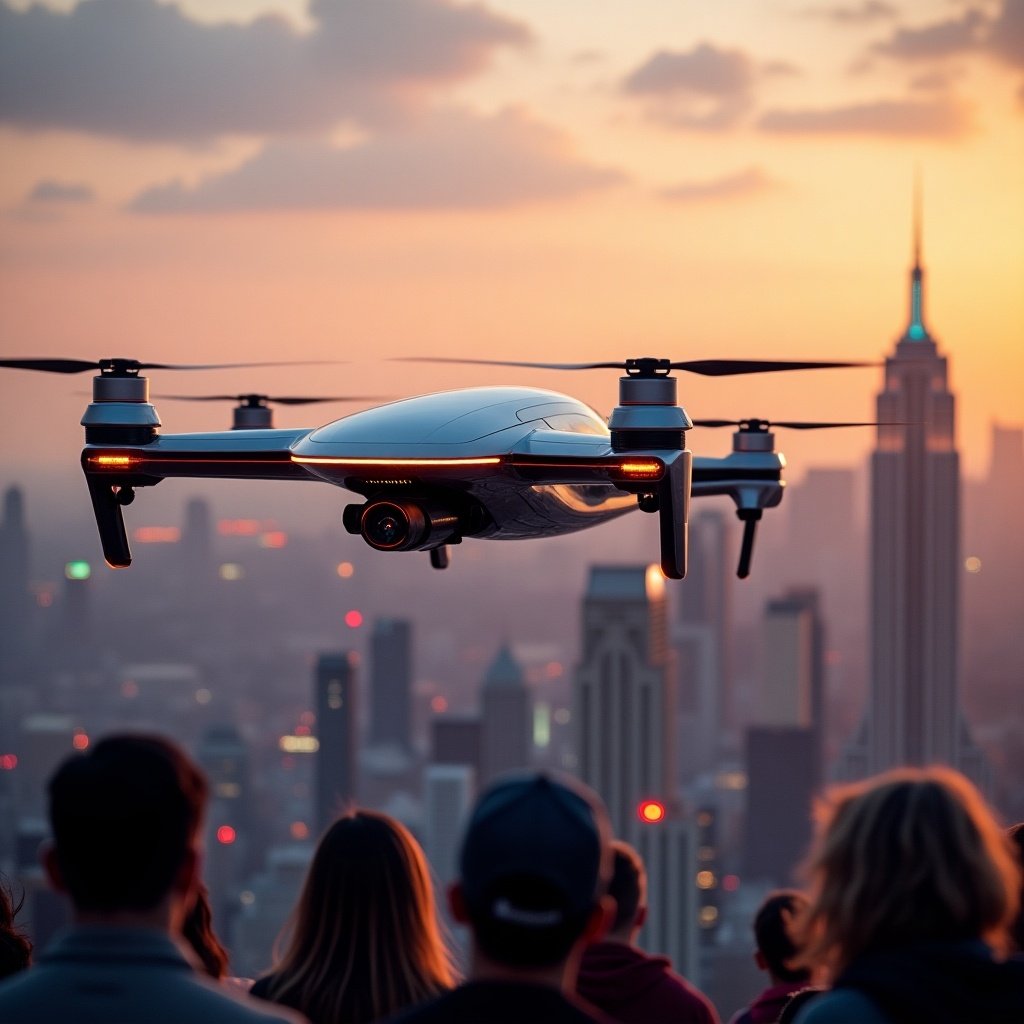
<svg viewBox="0 0 1024 1024">
<path fill-rule="evenodd" d="M 268 995 L 313 1021 L 388 1018 L 454 983 L 423 851 L 374 811 L 321 838 L 282 945 Z"/>
</svg>

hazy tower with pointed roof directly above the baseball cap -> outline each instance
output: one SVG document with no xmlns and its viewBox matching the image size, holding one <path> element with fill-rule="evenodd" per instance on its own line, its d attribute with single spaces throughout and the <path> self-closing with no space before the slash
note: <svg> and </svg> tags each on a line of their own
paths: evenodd
<svg viewBox="0 0 1024 1024">
<path fill-rule="evenodd" d="M 483 778 L 525 768 L 532 745 L 529 689 L 522 668 L 507 644 L 495 656 L 483 677 L 480 695 Z"/>
</svg>

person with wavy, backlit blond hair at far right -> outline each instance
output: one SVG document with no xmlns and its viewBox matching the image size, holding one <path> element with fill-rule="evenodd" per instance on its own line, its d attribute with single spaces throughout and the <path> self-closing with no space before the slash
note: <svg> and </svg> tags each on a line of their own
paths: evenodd
<svg viewBox="0 0 1024 1024">
<path fill-rule="evenodd" d="M 803 956 L 833 987 L 798 1024 L 1024 1022 L 1024 961 L 1001 958 L 1020 868 L 958 772 L 905 768 L 838 788 L 808 870 Z"/>
</svg>

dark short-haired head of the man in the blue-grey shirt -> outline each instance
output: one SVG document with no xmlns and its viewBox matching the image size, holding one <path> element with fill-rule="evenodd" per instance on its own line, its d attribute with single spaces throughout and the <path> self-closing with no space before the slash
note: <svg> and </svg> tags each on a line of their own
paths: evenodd
<svg viewBox="0 0 1024 1024">
<path fill-rule="evenodd" d="M 180 916 L 206 795 L 203 773 L 169 740 L 99 740 L 50 779 L 50 878 L 78 913 L 146 912 L 171 899 Z"/>
</svg>

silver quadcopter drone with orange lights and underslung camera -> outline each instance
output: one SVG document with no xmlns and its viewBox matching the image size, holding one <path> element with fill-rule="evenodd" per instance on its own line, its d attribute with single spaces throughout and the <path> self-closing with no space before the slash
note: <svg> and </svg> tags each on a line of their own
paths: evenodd
<svg viewBox="0 0 1024 1024">
<path fill-rule="evenodd" d="M 267 395 L 178 396 L 237 400 L 250 410 L 236 427 L 161 433 L 144 370 L 228 369 L 130 358 L 96 361 L 0 359 L 0 367 L 52 373 L 98 370 L 82 417 L 85 472 L 103 557 L 125 568 L 132 556 L 123 509 L 139 488 L 171 477 L 318 480 L 359 497 L 345 529 L 379 551 L 426 551 L 435 568 L 462 541 L 526 540 L 572 534 L 639 508 L 659 522 L 664 574 L 686 574 L 691 497 L 727 496 L 743 523 L 737 575 L 750 573 L 755 529 L 782 500 L 784 456 L 770 426 L 812 429 L 870 424 L 696 420 L 677 400 L 673 371 L 705 376 L 877 366 L 873 362 L 690 359 L 649 356 L 618 362 L 548 364 L 419 357 L 548 370 L 618 370 L 618 404 L 605 422 L 577 398 L 535 387 L 489 386 L 388 401 L 312 429 L 274 429 Z M 253 417 L 259 417 L 253 426 Z M 693 456 L 694 426 L 733 426 L 724 458 Z"/>
</svg>

